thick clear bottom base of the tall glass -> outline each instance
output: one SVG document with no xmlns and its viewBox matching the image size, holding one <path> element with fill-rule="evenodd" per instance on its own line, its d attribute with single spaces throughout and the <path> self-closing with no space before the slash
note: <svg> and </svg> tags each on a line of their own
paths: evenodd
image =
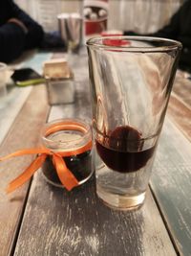
<svg viewBox="0 0 191 256">
<path fill-rule="evenodd" d="M 115 210 L 130 211 L 140 208 L 145 199 L 145 192 L 137 196 L 117 195 L 104 191 L 100 186 L 96 187 L 96 194 L 104 204 Z"/>
</svg>

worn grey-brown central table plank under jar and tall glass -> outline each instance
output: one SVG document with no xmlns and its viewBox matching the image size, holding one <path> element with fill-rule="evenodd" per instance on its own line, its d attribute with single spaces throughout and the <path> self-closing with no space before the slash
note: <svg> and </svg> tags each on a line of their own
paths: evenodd
<svg viewBox="0 0 191 256">
<path fill-rule="evenodd" d="M 54 106 L 49 120 L 90 118 L 86 60 L 78 59 L 73 65 L 75 105 Z M 177 254 L 150 191 L 141 210 L 118 212 L 104 206 L 96 197 L 94 177 L 68 193 L 46 183 L 39 171 L 32 180 L 14 255 Z"/>
</svg>

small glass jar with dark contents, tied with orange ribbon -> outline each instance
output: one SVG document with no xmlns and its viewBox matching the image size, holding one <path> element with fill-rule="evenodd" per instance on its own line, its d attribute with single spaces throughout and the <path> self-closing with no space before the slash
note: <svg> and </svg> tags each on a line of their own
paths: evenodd
<svg viewBox="0 0 191 256">
<path fill-rule="evenodd" d="M 48 123 L 42 130 L 42 145 L 63 156 L 67 168 L 75 176 L 78 184 L 86 182 L 94 173 L 92 130 L 79 119 L 59 119 Z M 89 146 L 88 146 L 89 145 Z M 88 146 L 88 147 L 86 147 Z M 88 149 L 81 152 L 81 149 Z M 80 153 L 77 153 L 79 151 Z M 53 156 L 47 156 L 42 166 L 46 180 L 57 187 L 63 187 L 53 166 Z"/>
</svg>

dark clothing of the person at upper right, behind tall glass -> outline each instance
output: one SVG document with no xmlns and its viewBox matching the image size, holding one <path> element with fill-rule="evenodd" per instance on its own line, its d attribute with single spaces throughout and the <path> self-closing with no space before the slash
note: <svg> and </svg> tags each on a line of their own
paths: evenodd
<svg viewBox="0 0 191 256">
<path fill-rule="evenodd" d="M 138 35 L 132 32 L 124 32 L 124 35 Z M 191 0 L 187 0 L 176 12 L 169 24 L 156 33 L 149 36 L 165 37 L 178 40 L 183 49 L 180 56 L 180 67 L 191 70 Z"/>
</svg>

